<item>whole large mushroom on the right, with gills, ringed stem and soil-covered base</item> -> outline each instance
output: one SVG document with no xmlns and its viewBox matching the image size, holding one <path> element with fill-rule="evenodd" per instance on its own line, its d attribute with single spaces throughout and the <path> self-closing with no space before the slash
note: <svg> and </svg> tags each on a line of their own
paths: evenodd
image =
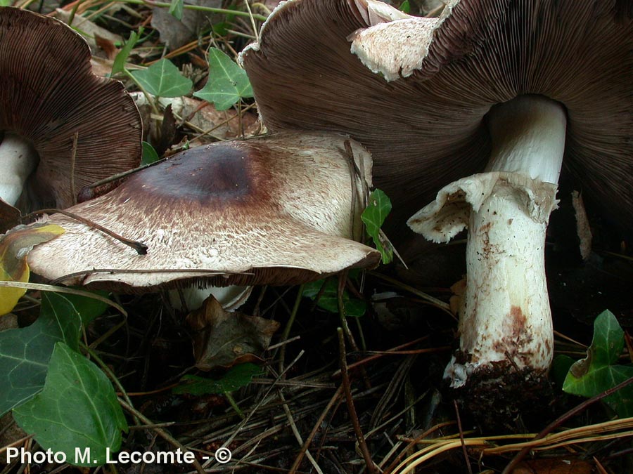
<svg viewBox="0 0 633 474">
<path fill-rule="evenodd" d="M 488 422 L 546 383 L 544 241 L 561 165 L 633 225 L 629 6 L 452 0 L 439 18 L 414 18 L 373 0 L 295 0 L 243 52 L 269 129 L 349 133 L 397 216 L 442 188 L 409 225 L 435 242 L 468 228 L 445 376 Z"/>
</svg>

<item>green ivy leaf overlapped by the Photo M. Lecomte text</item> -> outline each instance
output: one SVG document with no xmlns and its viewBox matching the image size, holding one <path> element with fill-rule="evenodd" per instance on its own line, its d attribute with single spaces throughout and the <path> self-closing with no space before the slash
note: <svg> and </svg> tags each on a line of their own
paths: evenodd
<svg viewBox="0 0 633 474">
<path fill-rule="evenodd" d="M 127 431 L 106 374 L 61 342 L 53 350 L 44 390 L 14 409 L 13 417 L 41 447 L 63 452 L 77 466 L 105 463 L 106 448 L 117 452 L 121 431 Z M 77 459 L 77 448 L 89 448 L 89 459 Z"/>
</svg>

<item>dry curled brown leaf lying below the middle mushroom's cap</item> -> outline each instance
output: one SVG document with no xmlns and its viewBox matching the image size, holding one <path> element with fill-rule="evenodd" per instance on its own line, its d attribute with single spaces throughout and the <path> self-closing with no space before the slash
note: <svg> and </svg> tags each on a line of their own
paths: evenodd
<svg viewBox="0 0 633 474">
<path fill-rule="evenodd" d="M 196 367 L 201 370 L 257 360 L 279 329 L 279 322 L 225 311 L 213 296 L 191 312 L 187 322 L 196 331 L 193 355 Z"/>
</svg>

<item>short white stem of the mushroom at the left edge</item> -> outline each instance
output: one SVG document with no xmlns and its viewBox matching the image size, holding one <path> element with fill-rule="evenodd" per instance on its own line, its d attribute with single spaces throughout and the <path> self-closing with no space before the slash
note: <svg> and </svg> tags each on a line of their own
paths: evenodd
<svg viewBox="0 0 633 474">
<path fill-rule="evenodd" d="M 29 175 L 37 167 L 37 152 L 15 133 L 5 132 L 0 143 L 0 199 L 13 206 Z"/>
</svg>

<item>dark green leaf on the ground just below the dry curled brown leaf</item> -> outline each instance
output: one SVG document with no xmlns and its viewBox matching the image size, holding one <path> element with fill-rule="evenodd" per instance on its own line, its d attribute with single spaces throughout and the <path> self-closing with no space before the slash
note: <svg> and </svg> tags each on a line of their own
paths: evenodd
<svg viewBox="0 0 633 474">
<path fill-rule="evenodd" d="M 250 379 L 263 374 L 262 369 L 247 362 L 231 367 L 222 378 L 205 378 L 186 375 L 180 379 L 181 385 L 174 387 L 174 393 L 190 393 L 191 395 L 205 395 L 207 393 L 228 393 L 247 386 Z"/>
</svg>

